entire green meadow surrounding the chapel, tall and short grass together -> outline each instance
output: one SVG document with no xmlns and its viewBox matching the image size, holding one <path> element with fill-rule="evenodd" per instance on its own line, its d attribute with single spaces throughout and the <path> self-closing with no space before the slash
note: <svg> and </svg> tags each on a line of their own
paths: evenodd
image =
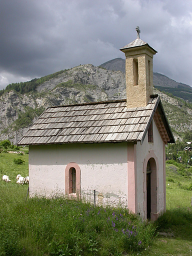
<svg viewBox="0 0 192 256">
<path fill-rule="evenodd" d="M 30 198 L 26 153 L 0 153 L 0 255 L 192 255 L 190 169 L 166 164 L 166 212 L 157 221 L 142 221 L 127 209 L 69 200 Z M 14 159 L 20 158 L 22 164 Z"/>
</svg>

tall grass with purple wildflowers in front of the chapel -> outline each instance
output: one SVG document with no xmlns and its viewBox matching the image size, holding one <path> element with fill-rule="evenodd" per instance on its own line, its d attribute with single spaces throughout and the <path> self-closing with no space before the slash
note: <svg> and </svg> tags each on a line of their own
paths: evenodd
<svg viewBox="0 0 192 256">
<path fill-rule="evenodd" d="M 147 247 L 155 232 L 127 209 L 64 197 L 25 202 L 25 192 L 1 186 L 0 255 L 121 255 Z"/>
</svg>

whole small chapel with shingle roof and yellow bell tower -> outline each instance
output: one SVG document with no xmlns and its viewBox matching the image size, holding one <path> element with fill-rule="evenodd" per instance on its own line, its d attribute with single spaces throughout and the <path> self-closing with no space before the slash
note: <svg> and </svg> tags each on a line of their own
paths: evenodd
<svg viewBox="0 0 192 256">
<path fill-rule="evenodd" d="M 153 94 L 156 54 L 137 38 L 124 52 L 126 98 L 48 107 L 18 141 L 29 145 L 29 195 L 61 193 L 127 207 L 152 220 L 165 210 L 165 145 L 174 143 Z"/>
</svg>

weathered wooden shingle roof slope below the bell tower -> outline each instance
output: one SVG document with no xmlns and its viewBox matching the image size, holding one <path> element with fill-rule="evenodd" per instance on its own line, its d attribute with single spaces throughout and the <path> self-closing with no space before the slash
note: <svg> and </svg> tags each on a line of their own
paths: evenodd
<svg viewBox="0 0 192 256">
<path fill-rule="evenodd" d="M 159 102 L 155 96 L 145 107 L 127 108 L 126 100 L 48 107 L 18 144 L 142 142 Z"/>
</svg>

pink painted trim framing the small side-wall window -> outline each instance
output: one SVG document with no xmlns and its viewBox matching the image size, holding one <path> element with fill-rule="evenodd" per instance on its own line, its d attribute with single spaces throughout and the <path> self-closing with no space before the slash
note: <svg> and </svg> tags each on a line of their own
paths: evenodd
<svg viewBox="0 0 192 256">
<path fill-rule="evenodd" d="M 76 193 L 72 194 L 73 197 L 80 197 L 80 167 L 75 162 L 69 162 L 65 167 L 65 194 L 69 194 L 69 170 L 75 168 L 76 170 Z"/>
</svg>

